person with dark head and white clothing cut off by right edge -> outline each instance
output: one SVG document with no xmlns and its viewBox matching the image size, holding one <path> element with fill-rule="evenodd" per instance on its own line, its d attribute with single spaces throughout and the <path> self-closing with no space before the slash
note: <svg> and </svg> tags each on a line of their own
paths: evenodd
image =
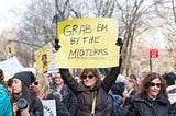
<svg viewBox="0 0 176 116">
<path fill-rule="evenodd" d="M 167 83 L 167 92 L 168 92 L 168 98 L 172 104 L 172 114 L 176 116 L 176 84 L 175 84 L 175 78 L 176 74 L 174 72 L 164 73 L 162 76 Z"/>
</svg>

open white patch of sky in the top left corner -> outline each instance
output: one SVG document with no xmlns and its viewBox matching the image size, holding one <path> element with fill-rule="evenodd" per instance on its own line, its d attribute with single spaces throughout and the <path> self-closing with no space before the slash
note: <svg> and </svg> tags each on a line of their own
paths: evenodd
<svg viewBox="0 0 176 116">
<path fill-rule="evenodd" d="M 29 0 L 0 0 L 0 33 L 3 30 L 13 27 L 21 15 L 14 12 L 22 12 L 26 9 Z"/>
</svg>

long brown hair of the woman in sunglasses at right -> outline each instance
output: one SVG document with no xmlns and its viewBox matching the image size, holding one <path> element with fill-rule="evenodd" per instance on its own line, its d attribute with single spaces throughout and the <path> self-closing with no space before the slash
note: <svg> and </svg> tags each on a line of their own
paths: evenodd
<svg viewBox="0 0 176 116">
<path fill-rule="evenodd" d="M 148 84 L 151 83 L 151 81 L 153 81 L 154 79 L 160 79 L 162 86 L 161 86 L 161 91 L 160 94 L 163 94 L 165 98 L 168 100 L 168 94 L 166 92 L 166 81 L 162 78 L 162 76 L 160 73 L 155 73 L 155 72 L 151 72 L 141 83 L 140 89 L 138 94 L 146 100 L 147 95 L 148 95 Z"/>
</svg>

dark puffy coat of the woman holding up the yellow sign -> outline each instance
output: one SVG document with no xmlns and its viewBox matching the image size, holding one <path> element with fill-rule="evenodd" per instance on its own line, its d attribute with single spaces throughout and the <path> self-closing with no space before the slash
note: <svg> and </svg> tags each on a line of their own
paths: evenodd
<svg viewBox="0 0 176 116">
<path fill-rule="evenodd" d="M 95 88 L 90 89 L 82 82 L 77 83 L 67 69 L 61 69 L 62 78 L 77 96 L 79 104 L 77 116 L 90 116 L 95 91 L 97 91 L 96 116 L 108 116 L 108 92 L 119 73 L 120 68 L 112 68 L 103 81 L 98 80 Z"/>
</svg>

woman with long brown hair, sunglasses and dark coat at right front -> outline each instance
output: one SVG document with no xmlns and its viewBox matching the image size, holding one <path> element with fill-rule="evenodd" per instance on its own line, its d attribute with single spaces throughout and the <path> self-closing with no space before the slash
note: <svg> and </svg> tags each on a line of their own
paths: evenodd
<svg viewBox="0 0 176 116">
<path fill-rule="evenodd" d="M 155 72 L 147 74 L 138 95 L 125 108 L 124 116 L 170 116 L 166 82 L 162 76 Z"/>
</svg>

